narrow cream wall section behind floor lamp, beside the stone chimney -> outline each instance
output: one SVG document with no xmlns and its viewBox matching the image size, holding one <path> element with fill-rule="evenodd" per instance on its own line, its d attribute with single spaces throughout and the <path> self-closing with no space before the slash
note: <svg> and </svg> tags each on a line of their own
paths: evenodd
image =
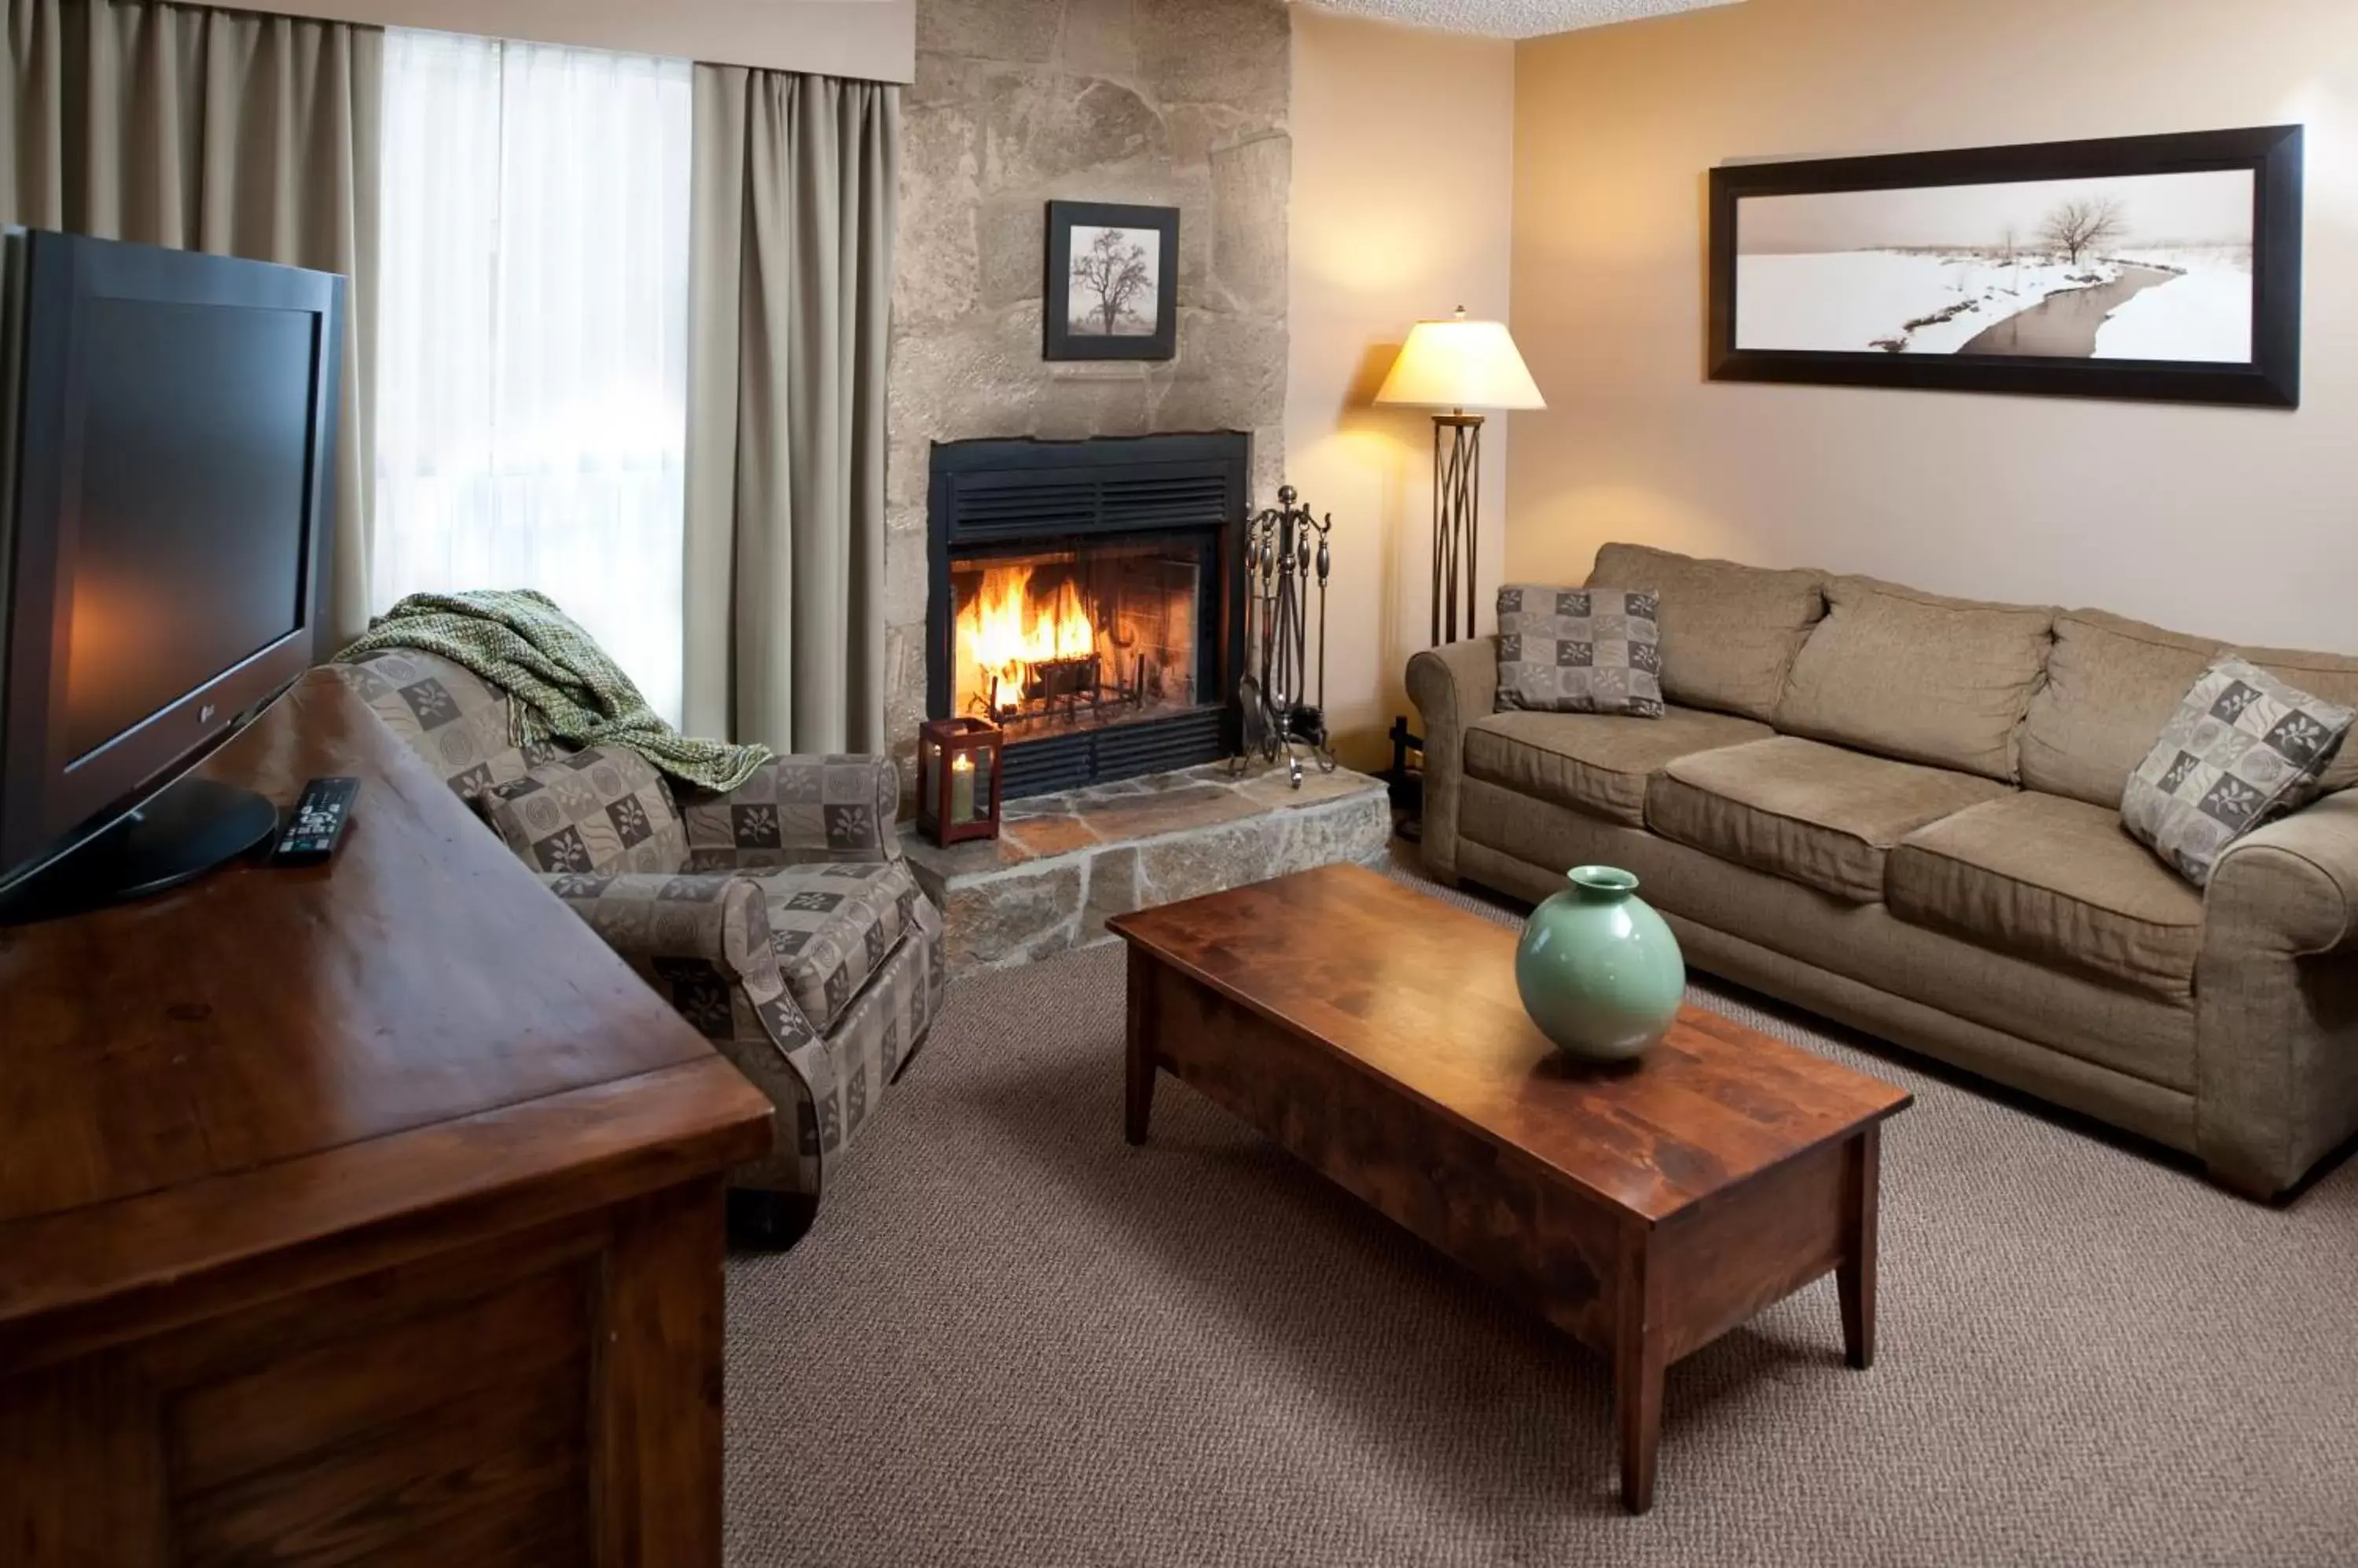
<svg viewBox="0 0 2358 1568">
<path fill-rule="evenodd" d="M 1344 759 L 1372 766 L 1391 759 L 1384 731 L 1410 712 L 1401 674 L 1427 641 L 1434 465 L 1431 420 L 1368 398 L 1417 318 L 1460 304 L 1507 316 L 1514 45 L 1297 5 L 1292 132 L 1285 469 L 1335 514 L 1328 722 Z M 1504 545 L 1502 420 L 1483 460 L 1488 589 Z"/>
</svg>

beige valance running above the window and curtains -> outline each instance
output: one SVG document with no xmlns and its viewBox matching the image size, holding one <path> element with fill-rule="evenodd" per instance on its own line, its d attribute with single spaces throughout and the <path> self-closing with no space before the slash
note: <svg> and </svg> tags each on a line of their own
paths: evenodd
<svg viewBox="0 0 2358 1568">
<path fill-rule="evenodd" d="M 262 9 L 877 83 L 917 71 L 917 0 L 264 0 Z"/>
</svg>

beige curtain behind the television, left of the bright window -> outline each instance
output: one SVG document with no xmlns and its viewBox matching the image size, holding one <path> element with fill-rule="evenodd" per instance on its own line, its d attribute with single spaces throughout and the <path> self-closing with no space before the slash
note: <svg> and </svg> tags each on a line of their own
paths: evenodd
<svg viewBox="0 0 2358 1568">
<path fill-rule="evenodd" d="M 7 0 L 0 222 L 351 281 L 332 639 L 368 625 L 382 80 L 377 28 L 146 0 Z"/>
</svg>

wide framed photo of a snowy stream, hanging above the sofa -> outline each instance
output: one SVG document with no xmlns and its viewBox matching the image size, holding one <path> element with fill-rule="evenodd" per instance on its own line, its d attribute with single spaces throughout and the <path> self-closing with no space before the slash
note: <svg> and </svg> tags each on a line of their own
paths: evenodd
<svg viewBox="0 0 2358 1568">
<path fill-rule="evenodd" d="M 2301 127 L 1712 170 L 1710 373 L 2301 401 Z"/>
</svg>

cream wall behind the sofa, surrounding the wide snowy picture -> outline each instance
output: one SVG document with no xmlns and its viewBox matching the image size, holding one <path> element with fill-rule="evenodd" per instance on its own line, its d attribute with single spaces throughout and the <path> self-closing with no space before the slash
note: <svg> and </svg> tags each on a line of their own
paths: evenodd
<svg viewBox="0 0 2358 1568">
<path fill-rule="evenodd" d="M 1627 538 L 2358 651 L 2358 5 L 1750 0 L 1523 45 L 1516 575 Z M 2308 125 L 2304 408 L 1702 377 L 1705 170 Z"/>
</svg>

